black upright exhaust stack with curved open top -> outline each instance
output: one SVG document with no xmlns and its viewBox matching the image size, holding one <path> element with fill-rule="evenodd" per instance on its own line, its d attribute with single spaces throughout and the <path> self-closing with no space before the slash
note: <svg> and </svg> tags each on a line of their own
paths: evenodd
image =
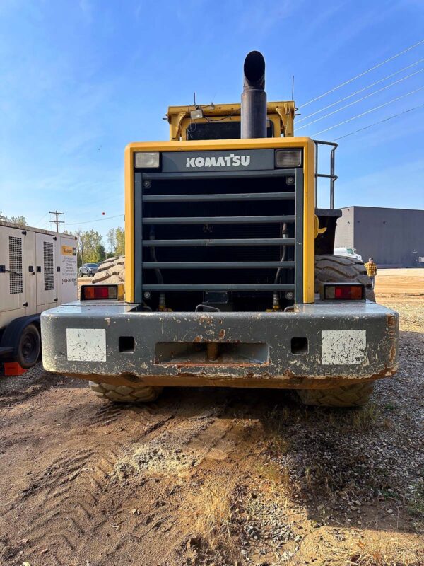
<svg viewBox="0 0 424 566">
<path fill-rule="evenodd" d="M 259 51 L 247 54 L 242 93 L 242 138 L 266 137 L 265 59 Z"/>
</svg>

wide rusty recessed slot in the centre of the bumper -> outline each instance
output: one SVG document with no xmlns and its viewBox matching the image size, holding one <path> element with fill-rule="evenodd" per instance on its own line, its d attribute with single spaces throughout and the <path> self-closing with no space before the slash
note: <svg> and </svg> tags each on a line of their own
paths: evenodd
<svg viewBox="0 0 424 566">
<path fill-rule="evenodd" d="M 155 364 L 177 366 L 262 366 L 269 364 L 269 345 L 247 342 L 158 342 Z"/>
</svg>

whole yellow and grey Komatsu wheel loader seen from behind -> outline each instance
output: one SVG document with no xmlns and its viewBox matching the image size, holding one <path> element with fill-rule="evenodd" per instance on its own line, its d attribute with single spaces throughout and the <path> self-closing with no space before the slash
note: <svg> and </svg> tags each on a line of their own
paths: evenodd
<svg viewBox="0 0 424 566">
<path fill-rule="evenodd" d="M 295 104 L 266 103 L 259 52 L 244 70 L 241 105 L 171 107 L 170 141 L 126 147 L 125 301 L 105 281 L 43 313 L 49 371 L 111 400 L 232 386 L 339 406 L 396 372 L 397 313 L 361 262 L 333 255 L 336 144 L 293 136 Z"/>
</svg>

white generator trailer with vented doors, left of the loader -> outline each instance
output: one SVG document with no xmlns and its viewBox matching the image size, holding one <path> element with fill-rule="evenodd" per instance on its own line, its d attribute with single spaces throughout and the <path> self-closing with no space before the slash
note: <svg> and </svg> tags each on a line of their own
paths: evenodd
<svg viewBox="0 0 424 566">
<path fill-rule="evenodd" d="M 77 299 L 76 238 L 0 221 L 0 362 L 40 357 L 40 315 Z"/>
</svg>

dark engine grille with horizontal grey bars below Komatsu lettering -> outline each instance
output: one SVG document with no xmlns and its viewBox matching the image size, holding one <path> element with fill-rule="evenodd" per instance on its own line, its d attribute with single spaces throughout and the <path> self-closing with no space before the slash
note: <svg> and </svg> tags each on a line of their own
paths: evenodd
<svg viewBox="0 0 424 566">
<path fill-rule="evenodd" d="M 219 290 L 292 291 L 301 301 L 300 169 L 135 180 L 136 300 L 145 291 Z"/>
</svg>

